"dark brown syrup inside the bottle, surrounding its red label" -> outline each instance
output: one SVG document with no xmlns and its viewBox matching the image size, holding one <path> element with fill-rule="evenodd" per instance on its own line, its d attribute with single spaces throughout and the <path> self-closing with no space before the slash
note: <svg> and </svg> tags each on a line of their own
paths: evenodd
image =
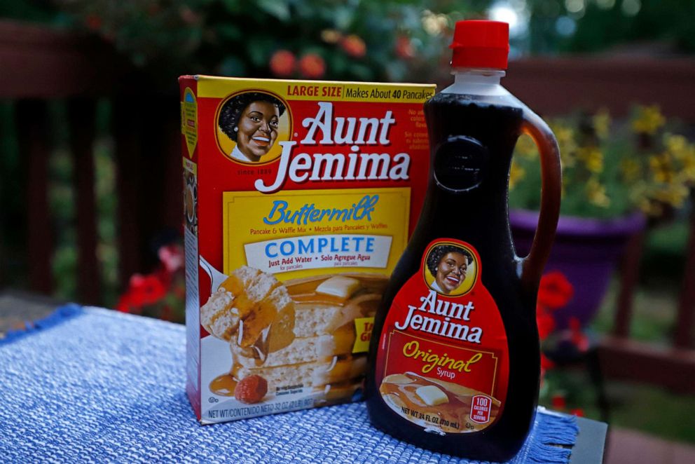
<svg viewBox="0 0 695 464">
<path fill-rule="evenodd" d="M 512 458 L 528 435 L 537 405 L 540 355 L 535 289 L 521 285 L 521 259 L 509 231 L 507 195 L 523 109 L 481 104 L 440 93 L 425 104 L 431 168 L 425 204 L 406 251 L 394 270 L 371 338 L 365 394 L 374 425 L 423 448 L 476 460 Z M 428 243 L 465 240 L 478 250 L 483 285 L 499 308 L 509 348 L 509 389 L 500 416 L 485 430 L 437 435 L 403 420 L 385 404 L 373 369 L 378 341 L 394 296 L 418 272 Z M 465 342 L 461 342 L 465 343 Z"/>
</svg>

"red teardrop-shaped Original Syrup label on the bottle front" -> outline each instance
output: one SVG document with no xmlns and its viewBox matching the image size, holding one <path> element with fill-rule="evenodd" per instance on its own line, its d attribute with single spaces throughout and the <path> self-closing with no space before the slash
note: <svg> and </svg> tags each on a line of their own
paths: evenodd
<svg viewBox="0 0 695 464">
<path fill-rule="evenodd" d="M 428 432 L 477 432 L 502 414 L 507 334 L 469 243 L 434 240 L 394 297 L 376 358 L 384 402 Z"/>
</svg>

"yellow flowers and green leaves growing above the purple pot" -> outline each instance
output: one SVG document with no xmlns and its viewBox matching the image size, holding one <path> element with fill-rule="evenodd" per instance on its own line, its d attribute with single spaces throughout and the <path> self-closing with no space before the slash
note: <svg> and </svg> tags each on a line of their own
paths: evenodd
<svg viewBox="0 0 695 464">
<path fill-rule="evenodd" d="M 695 145 L 665 125 L 658 107 L 636 108 L 621 128 L 605 111 L 551 121 L 563 162 L 560 212 L 607 219 L 642 210 L 660 217 L 682 207 L 695 182 Z M 524 136 L 511 165 L 509 205 L 536 210 L 540 185 L 537 149 Z"/>
</svg>

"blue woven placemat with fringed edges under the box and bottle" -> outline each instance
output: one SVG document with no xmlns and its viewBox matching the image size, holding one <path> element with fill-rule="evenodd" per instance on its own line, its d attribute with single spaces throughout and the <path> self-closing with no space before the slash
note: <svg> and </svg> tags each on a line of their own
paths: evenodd
<svg viewBox="0 0 695 464">
<path fill-rule="evenodd" d="M 457 463 L 369 425 L 364 403 L 198 425 L 184 327 L 64 306 L 0 341 L 1 462 Z M 566 463 L 572 418 L 540 411 L 514 463 Z"/>
</svg>

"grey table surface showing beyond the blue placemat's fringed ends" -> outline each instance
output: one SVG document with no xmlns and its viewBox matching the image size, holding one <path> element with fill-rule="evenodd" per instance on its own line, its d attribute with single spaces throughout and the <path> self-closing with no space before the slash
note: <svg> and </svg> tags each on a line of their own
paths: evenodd
<svg viewBox="0 0 695 464">
<path fill-rule="evenodd" d="M 23 292 L 0 293 L 0 338 L 9 330 L 20 329 L 26 322 L 52 313 L 60 303 L 45 296 Z M 607 424 L 587 418 L 577 418 L 579 434 L 572 446 L 570 464 L 603 463 Z"/>
</svg>

